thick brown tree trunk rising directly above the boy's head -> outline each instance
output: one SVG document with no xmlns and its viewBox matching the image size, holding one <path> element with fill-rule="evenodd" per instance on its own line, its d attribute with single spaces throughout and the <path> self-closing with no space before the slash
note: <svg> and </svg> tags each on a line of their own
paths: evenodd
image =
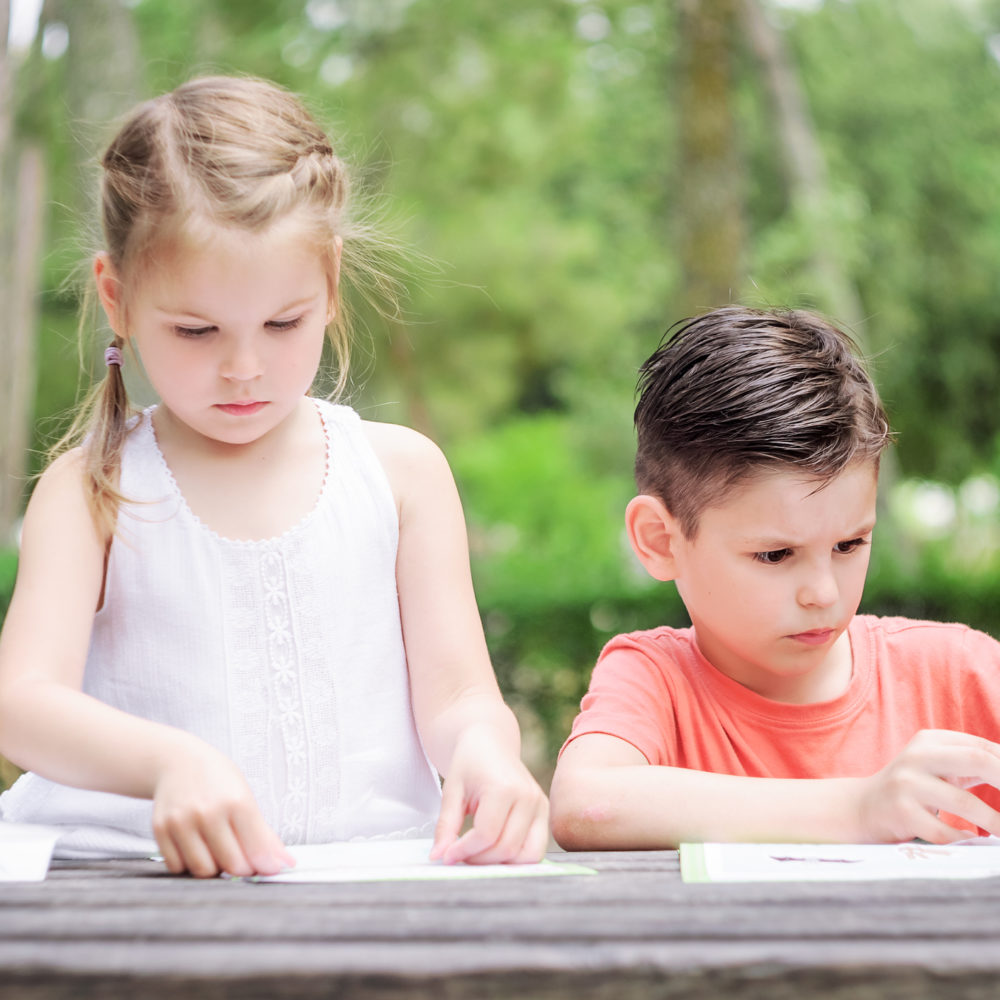
<svg viewBox="0 0 1000 1000">
<path fill-rule="evenodd" d="M 684 315 L 732 301 L 743 276 L 743 185 L 731 99 L 736 20 L 736 0 L 679 4 Z"/>
</svg>

